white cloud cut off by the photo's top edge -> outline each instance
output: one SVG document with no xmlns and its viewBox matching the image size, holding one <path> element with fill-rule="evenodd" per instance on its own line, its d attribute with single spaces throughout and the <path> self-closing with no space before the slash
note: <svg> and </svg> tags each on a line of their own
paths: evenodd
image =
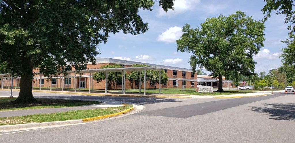
<svg viewBox="0 0 295 143">
<path fill-rule="evenodd" d="M 175 0 L 173 1 L 174 10 L 169 9 L 165 12 L 161 7 L 158 8 L 158 12 L 156 14 L 157 17 L 162 16 L 173 16 L 176 14 L 184 13 L 188 10 L 192 10 L 199 4 L 200 0 Z"/>
</svg>

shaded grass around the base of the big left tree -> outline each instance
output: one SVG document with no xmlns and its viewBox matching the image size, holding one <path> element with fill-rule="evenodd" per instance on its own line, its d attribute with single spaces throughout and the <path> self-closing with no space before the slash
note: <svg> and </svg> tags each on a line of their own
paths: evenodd
<svg viewBox="0 0 295 143">
<path fill-rule="evenodd" d="M 74 107 L 90 104 L 99 104 L 98 101 L 81 101 L 81 100 L 63 100 L 63 99 L 46 99 L 36 98 L 38 102 L 32 104 L 11 104 L 17 98 L 0 98 L 0 111 L 20 110 L 20 109 L 40 109 L 40 108 L 60 108 Z"/>
</svg>

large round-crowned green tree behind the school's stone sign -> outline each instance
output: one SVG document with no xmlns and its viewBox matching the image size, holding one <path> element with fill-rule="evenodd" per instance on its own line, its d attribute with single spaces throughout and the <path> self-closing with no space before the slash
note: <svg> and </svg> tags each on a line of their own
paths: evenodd
<svg viewBox="0 0 295 143">
<path fill-rule="evenodd" d="M 189 63 L 192 69 L 205 67 L 222 83 L 222 75 L 237 77 L 254 73 L 256 55 L 263 47 L 264 24 L 237 11 L 230 16 L 207 18 L 201 28 L 186 24 L 184 34 L 176 41 L 177 50 L 193 53 Z M 195 71 L 194 71 L 195 72 Z M 222 92 L 222 84 L 218 90 Z"/>
</svg>

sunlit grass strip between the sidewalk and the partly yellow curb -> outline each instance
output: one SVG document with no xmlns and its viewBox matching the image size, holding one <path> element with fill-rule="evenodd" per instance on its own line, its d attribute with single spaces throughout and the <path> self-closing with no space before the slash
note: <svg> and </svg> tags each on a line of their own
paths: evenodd
<svg viewBox="0 0 295 143">
<path fill-rule="evenodd" d="M 74 110 L 74 111 L 50 113 L 50 114 L 35 114 L 35 115 L 16 116 L 16 117 L 3 117 L 3 118 L 0 118 L 0 125 L 85 119 L 85 118 L 91 118 L 91 117 L 97 117 L 97 116 L 103 116 L 107 114 L 121 112 L 131 108 L 132 106 L 133 105 L 127 105 L 122 107 L 98 108 L 98 109 L 90 109 L 90 110 Z"/>
</svg>

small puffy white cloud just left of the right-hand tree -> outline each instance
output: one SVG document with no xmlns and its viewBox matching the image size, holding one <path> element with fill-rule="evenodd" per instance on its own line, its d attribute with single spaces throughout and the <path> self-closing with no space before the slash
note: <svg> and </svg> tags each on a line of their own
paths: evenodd
<svg viewBox="0 0 295 143">
<path fill-rule="evenodd" d="M 177 39 L 181 37 L 183 32 L 180 27 L 174 26 L 170 27 L 168 30 L 163 32 L 161 35 L 158 35 L 157 41 L 164 41 L 166 43 L 176 42 Z"/>
</svg>

